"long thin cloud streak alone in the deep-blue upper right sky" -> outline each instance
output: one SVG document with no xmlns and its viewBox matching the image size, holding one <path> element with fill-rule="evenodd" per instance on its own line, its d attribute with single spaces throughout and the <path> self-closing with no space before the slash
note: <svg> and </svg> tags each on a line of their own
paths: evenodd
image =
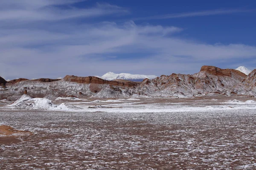
<svg viewBox="0 0 256 170">
<path fill-rule="evenodd" d="M 176 14 L 155 15 L 150 17 L 137 17 L 132 20 L 163 20 L 163 19 L 171 19 L 171 18 L 200 17 L 200 16 L 209 16 L 209 15 L 244 13 L 244 12 L 250 12 L 250 11 L 251 10 L 247 10 L 247 9 L 215 9 L 215 10 L 207 10 L 207 11 L 193 11 L 193 12 L 184 12 L 184 13 L 176 13 Z"/>
</svg>

